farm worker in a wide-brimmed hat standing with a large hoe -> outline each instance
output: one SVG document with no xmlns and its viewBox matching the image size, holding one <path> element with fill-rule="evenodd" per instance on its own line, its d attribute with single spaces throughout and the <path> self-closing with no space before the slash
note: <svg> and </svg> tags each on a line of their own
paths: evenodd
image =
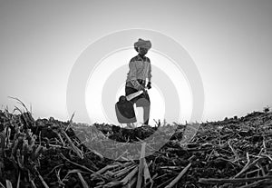
<svg viewBox="0 0 272 188">
<path fill-rule="evenodd" d="M 145 56 L 151 49 L 151 41 L 139 40 L 134 43 L 134 49 L 138 53 L 131 58 L 129 67 L 129 73 L 127 74 L 125 95 L 133 94 L 138 91 L 143 93 L 133 99 L 132 104 L 136 104 L 136 107 L 143 108 L 143 124 L 149 124 L 150 111 L 151 111 L 151 99 L 146 88 L 151 89 L 151 60 Z M 146 80 L 148 79 L 148 84 Z"/>
</svg>

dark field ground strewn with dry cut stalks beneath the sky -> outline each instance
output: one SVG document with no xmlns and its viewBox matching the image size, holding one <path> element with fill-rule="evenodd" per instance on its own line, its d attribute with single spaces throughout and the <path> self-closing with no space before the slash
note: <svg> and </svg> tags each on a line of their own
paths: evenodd
<svg viewBox="0 0 272 188">
<path fill-rule="evenodd" d="M 131 130 L 0 112 L 0 187 L 268 188 L 271 171 L 269 112 Z"/>
</svg>

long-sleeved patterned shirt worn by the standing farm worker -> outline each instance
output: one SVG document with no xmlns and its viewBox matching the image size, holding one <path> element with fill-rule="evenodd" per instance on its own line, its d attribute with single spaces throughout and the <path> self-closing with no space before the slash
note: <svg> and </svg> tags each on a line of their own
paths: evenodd
<svg viewBox="0 0 272 188">
<path fill-rule="evenodd" d="M 146 79 L 151 82 L 151 60 L 148 57 L 141 58 L 138 54 L 131 59 L 129 66 L 130 71 L 127 75 L 126 86 L 139 90 L 140 85 L 145 84 Z"/>
</svg>

